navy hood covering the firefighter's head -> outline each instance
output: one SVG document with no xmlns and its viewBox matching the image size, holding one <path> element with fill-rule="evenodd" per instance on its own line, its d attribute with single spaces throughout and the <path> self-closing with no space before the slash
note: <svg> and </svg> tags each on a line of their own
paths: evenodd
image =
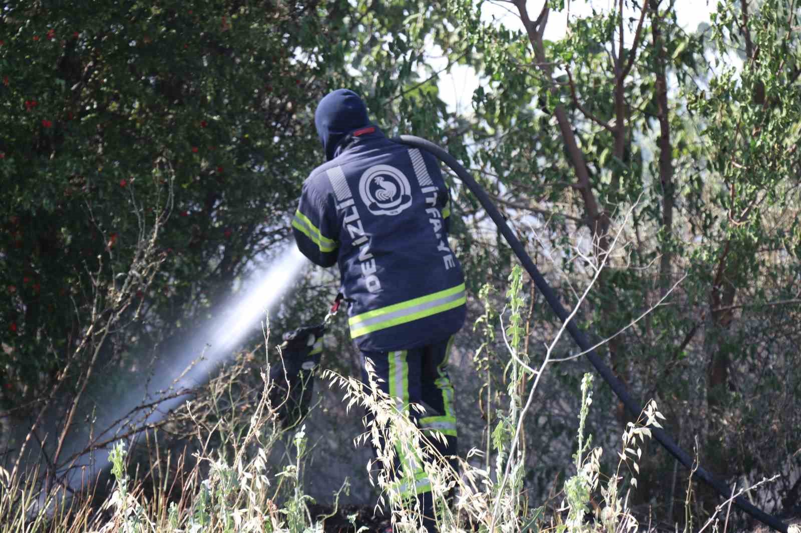
<svg viewBox="0 0 801 533">
<path fill-rule="evenodd" d="M 326 160 L 334 158 L 336 146 L 346 135 L 369 124 L 367 107 L 358 94 L 349 89 L 337 89 L 326 94 L 314 114 L 314 125 L 323 143 Z"/>
</svg>

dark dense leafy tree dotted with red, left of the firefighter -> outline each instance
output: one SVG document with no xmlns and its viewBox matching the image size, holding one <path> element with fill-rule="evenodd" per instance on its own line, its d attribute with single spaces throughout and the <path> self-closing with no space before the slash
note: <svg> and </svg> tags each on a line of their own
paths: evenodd
<svg viewBox="0 0 801 533">
<path fill-rule="evenodd" d="M 87 383 L 147 379 L 286 246 L 318 158 L 311 103 L 340 65 L 332 13 L 3 3 L 0 382 L 31 442 L 50 432 L 50 467 Z"/>
</svg>

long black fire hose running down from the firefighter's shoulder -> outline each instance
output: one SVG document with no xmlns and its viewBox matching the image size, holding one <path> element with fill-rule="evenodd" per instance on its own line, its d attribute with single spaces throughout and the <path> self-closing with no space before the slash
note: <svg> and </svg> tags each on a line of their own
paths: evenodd
<svg viewBox="0 0 801 533">
<path fill-rule="evenodd" d="M 478 183 L 473 179 L 473 176 L 469 174 L 465 167 L 461 166 L 456 158 L 454 158 L 447 151 L 443 150 L 433 142 L 425 140 L 424 138 L 415 137 L 414 135 L 400 135 L 399 138 L 395 138 L 394 140 L 409 146 L 414 146 L 416 148 L 429 151 L 441 162 L 444 162 L 446 165 L 451 167 L 454 172 L 456 172 L 457 176 L 459 176 L 461 179 L 461 182 L 463 182 L 469 188 L 469 190 L 476 195 L 478 201 L 481 202 L 481 205 L 484 206 L 487 214 L 489 214 L 489 217 L 493 219 L 493 222 L 495 222 L 498 229 L 501 230 L 501 234 L 503 234 L 506 241 L 509 242 L 509 246 L 512 247 L 514 254 L 517 255 L 517 258 L 520 259 L 520 262 L 523 264 L 525 270 L 528 271 L 531 279 L 533 279 L 534 283 L 537 285 L 537 289 L 539 289 L 542 295 L 545 296 L 545 300 L 548 301 L 550 307 L 553 309 L 553 312 L 556 313 L 562 322 L 565 322 L 570 314 L 567 312 L 565 307 L 562 307 L 562 303 L 559 301 L 559 299 L 557 299 L 556 294 L 549 287 L 548 282 L 545 281 L 545 278 L 542 277 L 540 271 L 537 270 L 537 266 L 531 260 L 529 254 L 525 253 L 523 245 L 519 240 L 517 240 L 517 237 L 515 237 L 511 228 L 509 228 L 509 226 L 506 224 L 506 220 L 503 215 L 497 210 L 497 207 L 495 207 L 493 202 L 489 199 L 489 196 L 486 194 L 485 190 L 478 185 Z M 586 352 L 587 359 L 590 359 L 590 363 L 592 363 L 598 373 L 602 375 L 603 379 L 606 380 L 606 383 L 610 384 L 614 394 L 618 395 L 618 398 L 623 405 L 626 406 L 626 409 L 628 409 L 630 413 L 634 415 L 634 417 L 638 417 L 642 413 L 642 407 L 640 407 L 639 403 L 632 398 L 623 383 L 617 377 L 615 377 L 614 374 L 612 374 L 612 371 L 610 371 L 609 367 L 607 367 L 601 361 L 601 359 L 598 357 L 598 354 L 596 354 L 592 348 L 592 344 L 590 344 L 590 341 L 587 340 L 584 333 L 578 328 L 578 326 L 576 326 L 576 323 L 571 320 L 570 323 L 567 324 L 566 328 L 567 331 L 570 332 L 570 336 L 573 337 L 582 351 Z M 678 447 L 678 445 L 673 439 L 670 438 L 670 435 L 668 435 L 666 431 L 658 427 L 653 427 L 651 428 L 651 434 L 654 435 L 659 443 L 670 452 L 670 455 L 673 455 L 685 467 L 690 469 L 690 471 L 695 468 L 695 475 L 703 479 L 706 484 L 714 488 L 715 491 L 718 491 L 718 493 L 723 495 L 724 498 L 731 498 L 732 494 L 729 487 L 727 487 L 726 484 L 721 482 L 719 479 L 715 479 L 714 475 L 712 475 L 709 471 L 706 471 L 704 468 L 695 465 L 692 457 Z M 746 511 L 749 515 L 753 516 L 755 519 L 758 519 L 760 522 L 774 528 L 776 531 L 787 533 L 786 523 L 783 523 L 775 516 L 768 515 L 765 511 L 762 511 L 761 509 L 751 505 L 751 503 L 748 503 L 746 499 L 743 499 L 742 496 L 735 498 L 734 503 L 737 507 L 743 511 Z"/>
</svg>

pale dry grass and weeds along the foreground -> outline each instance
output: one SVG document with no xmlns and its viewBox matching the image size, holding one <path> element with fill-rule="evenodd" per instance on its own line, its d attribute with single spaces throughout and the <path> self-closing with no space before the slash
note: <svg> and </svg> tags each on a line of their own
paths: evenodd
<svg viewBox="0 0 801 533">
<path fill-rule="evenodd" d="M 365 417 L 365 431 L 356 443 L 380 447 L 371 479 L 381 492 L 378 505 L 391 515 L 395 531 L 421 530 L 417 499 L 405 498 L 398 491 L 399 482 L 419 481 L 421 475 L 430 483 L 437 527 L 443 533 L 624 533 L 639 528 L 627 504 L 629 491 L 637 484 L 638 461 L 642 444 L 650 436 L 649 427 L 659 427 L 662 415 L 649 403 L 638 423 L 631 423 L 622 435 L 616 471 L 602 472 L 602 450 L 590 447 L 591 437 L 585 435 L 592 403 L 590 375 L 582 381 L 574 473 L 563 484 L 561 502 L 546 508 L 527 499 L 525 458 L 517 447 L 526 415 L 522 392 L 536 387 L 538 381 L 532 375 L 544 372 L 546 365 L 533 370 L 536 365 L 520 350 L 524 327 L 517 294 L 520 280 L 521 271 L 516 270 L 508 295 L 511 326 L 504 331 L 509 375 L 514 376 L 509 383 L 509 408 L 492 428 L 492 447 L 473 449 L 457 458 L 459 471 L 448 460 L 453 458 L 439 455 L 430 440 L 444 437 L 424 435 L 409 418 L 410 410 L 422 407 L 399 405 L 380 391 L 372 373 L 366 384 L 332 371 L 323 374 L 340 388 L 348 408 L 372 414 Z M 129 453 L 118 443 L 110 457 L 114 488 L 100 506 L 93 506 L 87 497 L 59 499 L 54 492 L 44 506 L 38 506 L 35 472 L 27 477 L 0 472 L 0 533 L 324 531 L 325 517 L 312 516 L 312 500 L 303 490 L 309 435 L 302 425 L 290 430 L 282 427 L 281 406 L 273 405 L 268 394 L 273 384 L 264 371 L 259 379 L 252 379 L 252 365 L 247 363 L 240 360 L 223 371 L 207 385 L 205 395 L 187 403 L 168 424 L 192 447 L 169 451 L 156 434 L 151 435 L 138 470 L 132 459 L 139 454 Z M 269 456 L 282 439 L 291 440 L 293 453 L 276 469 Z M 400 478 L 389 473 L 397 453 L 410 458 L 403 463 Z M 470 463 L 477 456 L 482 458 L 482 467 Z M 705 527 L 719 531 L 717 523 Z"/>
</svg>

